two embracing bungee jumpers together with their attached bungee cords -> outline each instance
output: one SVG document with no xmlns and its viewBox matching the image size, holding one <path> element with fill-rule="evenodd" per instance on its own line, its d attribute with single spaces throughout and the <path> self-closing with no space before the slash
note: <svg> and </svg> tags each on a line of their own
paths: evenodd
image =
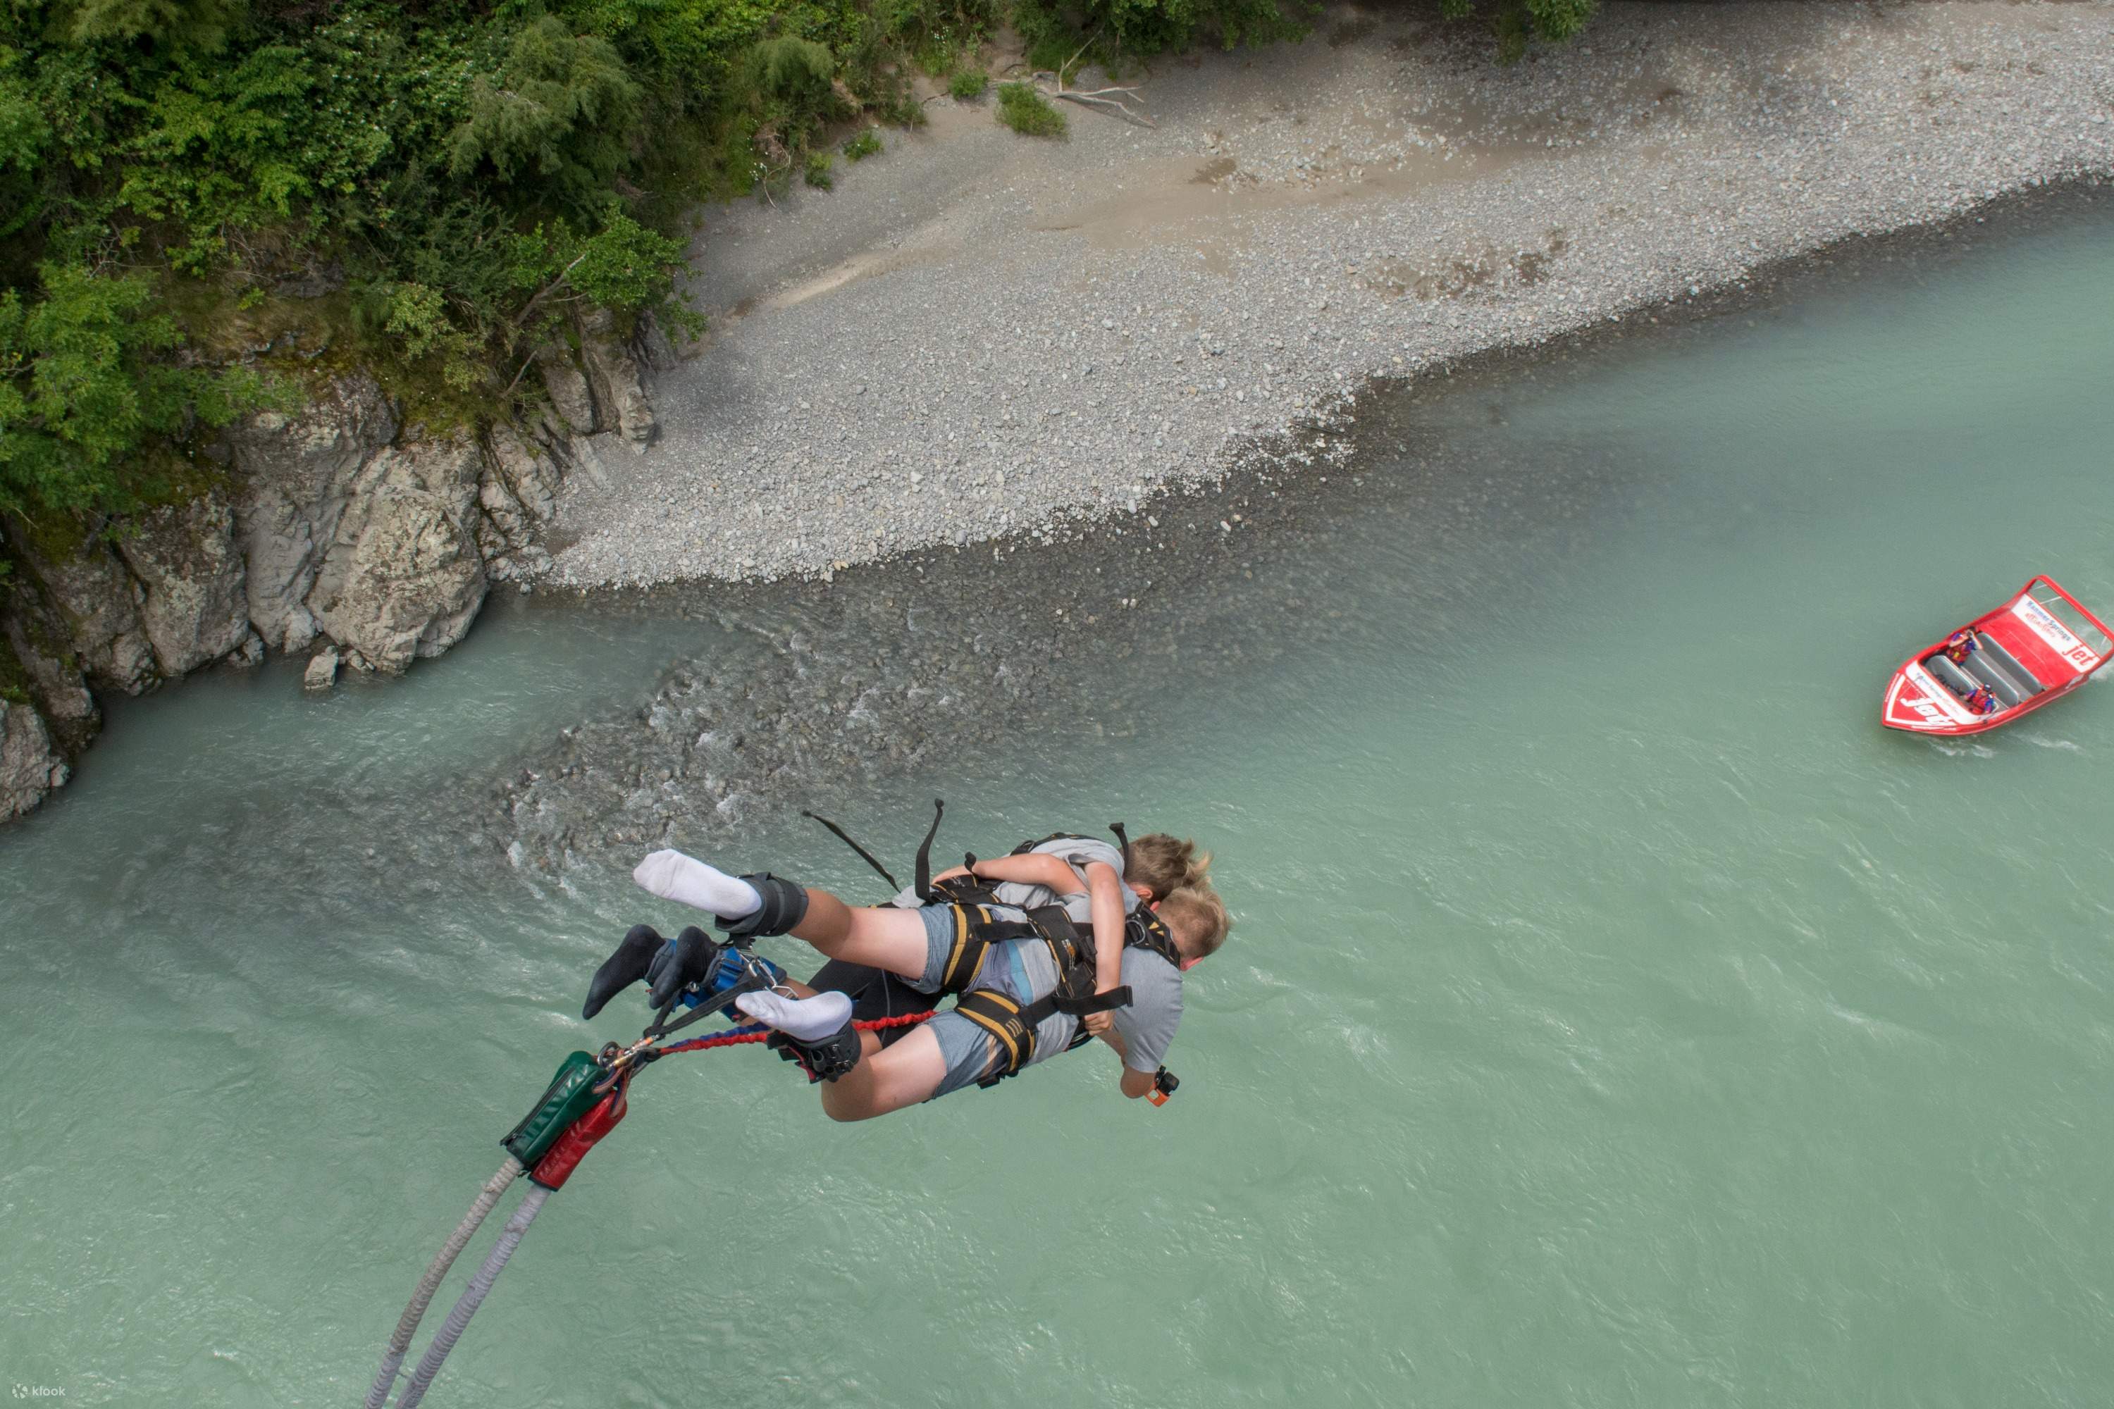
<svg viewBox="0 0 2114 1409">
<path fill-rule="evenodd" d="M 1209 856 L 1167 834 L 1116 843 L 1057 832 L 1006 858 L 930 875 L 932 839 L 917 847 L 915 883 L 888 906 L 848 906 L 769 872 L 729 877 L 681 851 L 655 851 L 632 877 L 655 896 L 712 913 L 727 938 L 698 927 L 662 940 L 632 927 L 590 982 L 583 1018 L 645 980 L 655 1008 L 638 1041 L 573 1052 L 543 1096 L 501 1141 L 505 1162 L 427 1265 L 383 1350 L 364 1409 L 423 1403 L 442 1363 L 514 1257 L 528 1225 L 594 1145 L 624 1120 L 641 1069 L 676 1052 L 763 1041 L 822 1088 L 835 1120 L 865 1120 L 977 1086 L 1099 1035 L 1123 1058 L 1125 1096 L 1163 1105 L 1175 1077 L 1161 1067 L 1182 1018 L 1182 974 L 1218 951 L 1230 927 L 1209 883 Z M 808 813 L 814 815 L 814 813 Z M 833 822 L 890 885 L 894 877 Z M 761 936 L 791 934 L 827 957 L 808 982 L 750 953 Z M 937 997 L 953 997 L 934 1012 Z M 689 1012 L 676 1016 L 676 1008 Z M 704 1016 L 759 1018 L 723 1033 L 670 1041 Z M 531 1191 L 448 1310 L 416 1369 L 404 1375 L 412 1335 L 455 1259 L 505 1189 Z"/>
</svg>

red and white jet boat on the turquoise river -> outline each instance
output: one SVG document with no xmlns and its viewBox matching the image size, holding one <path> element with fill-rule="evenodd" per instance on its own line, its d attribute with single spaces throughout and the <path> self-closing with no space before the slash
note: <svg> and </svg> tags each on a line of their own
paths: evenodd
<svg viewBox="0 0 2114 1409">
<path fill-rule="evenodd" d="M 1886 684 L 1879 722 L 1913 733 L 1983 733 L 2084 684 L 2114 632 L 2053 577 L 1924 646 Z"/>
</svg>

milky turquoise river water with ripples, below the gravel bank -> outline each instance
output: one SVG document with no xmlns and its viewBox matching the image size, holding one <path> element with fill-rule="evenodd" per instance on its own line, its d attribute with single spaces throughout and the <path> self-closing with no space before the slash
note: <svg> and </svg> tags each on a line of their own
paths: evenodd
<svg viewBox="0 0 2114 1409">
<path fill-rule="evenodd" d="M 2114 604 L 2110 319 L 2097 211 L 1397 399 L 1049 691 L 932 691 L 964 746 L 890 769 L 892 722 L 839 799 L 890 858 L 934 794 L 956 849 L 1218 851 L 1182 1094 L 1089 1052 L 839 1128 L 755 1050 L 664 1063 L 429 1403 L 2103 1403 L 2114 697 L 1968 748 L 1877 703 L 2036 570 Z M 114 708 L 0 834 L 0 1382 L 357 1403 L 497 1139 L 638 1020 L 573 1016 L 681 919 L 622 858 L 871 891 L 793 803 L 715 807 L 765 748 L 691 737 L 715 691 L 915 682 L 1015 608 L 1034 678 L 1032 558 L 509 604 L 397 684 Z"/>
</svg>

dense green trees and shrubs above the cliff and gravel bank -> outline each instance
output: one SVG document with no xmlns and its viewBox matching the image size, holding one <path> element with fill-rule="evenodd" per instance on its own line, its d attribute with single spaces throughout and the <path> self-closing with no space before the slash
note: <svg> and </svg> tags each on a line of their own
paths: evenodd
<svg viewBox="0 0 2114 1409">
<path fill-rule="evenodd" d="M 1467 11 L 1476 0 L 1442 0 Z M 1482 0 L 1507 51 L 1592 0 Z M 689 207 L 831 184 L 829 129 L 1038 68 L 1298 34 L 1311 0 L 8 0 L 0 513 L 180 492 L 211 431 L 366 365 L 414 416 L 533 395 L 571 315 L 683 317 Z M 1000 89 L 1025 133 L 1063 114 Z M 879 150 L 873 127 L 843 148 Z M 302 353 L 294 357 L 290 349 Z M 262 353 L 262 357 L 258 357 Z"/>
</svg>

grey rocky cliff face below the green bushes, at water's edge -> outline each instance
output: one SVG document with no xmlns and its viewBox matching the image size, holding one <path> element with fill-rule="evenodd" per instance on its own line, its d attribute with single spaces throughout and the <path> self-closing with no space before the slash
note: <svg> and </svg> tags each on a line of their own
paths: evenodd
<svg viewBox="0 0 2114 1409">
<path fill-rule="evenodd" d="M 91 691 L 140 695 L 266 649 L 313 653 L 307 682 L 328 687 L 338 663 L 402 672 L 459 642 L 495 579 L 541 562 L 535 539 L 567 467 L 596 439 L 655 433 L 641 353 L 607 319 L 579 334 L 539 359 L 552 412 L 535 427 L 406 427 L 374 380 L 351 376 L 296 414 L 235 427 L 226 473 L 190 503 L 106 524 L 66 553 L 13 534 L 0 820 L 66 782 L 101 725 Z"/>
</svg>

